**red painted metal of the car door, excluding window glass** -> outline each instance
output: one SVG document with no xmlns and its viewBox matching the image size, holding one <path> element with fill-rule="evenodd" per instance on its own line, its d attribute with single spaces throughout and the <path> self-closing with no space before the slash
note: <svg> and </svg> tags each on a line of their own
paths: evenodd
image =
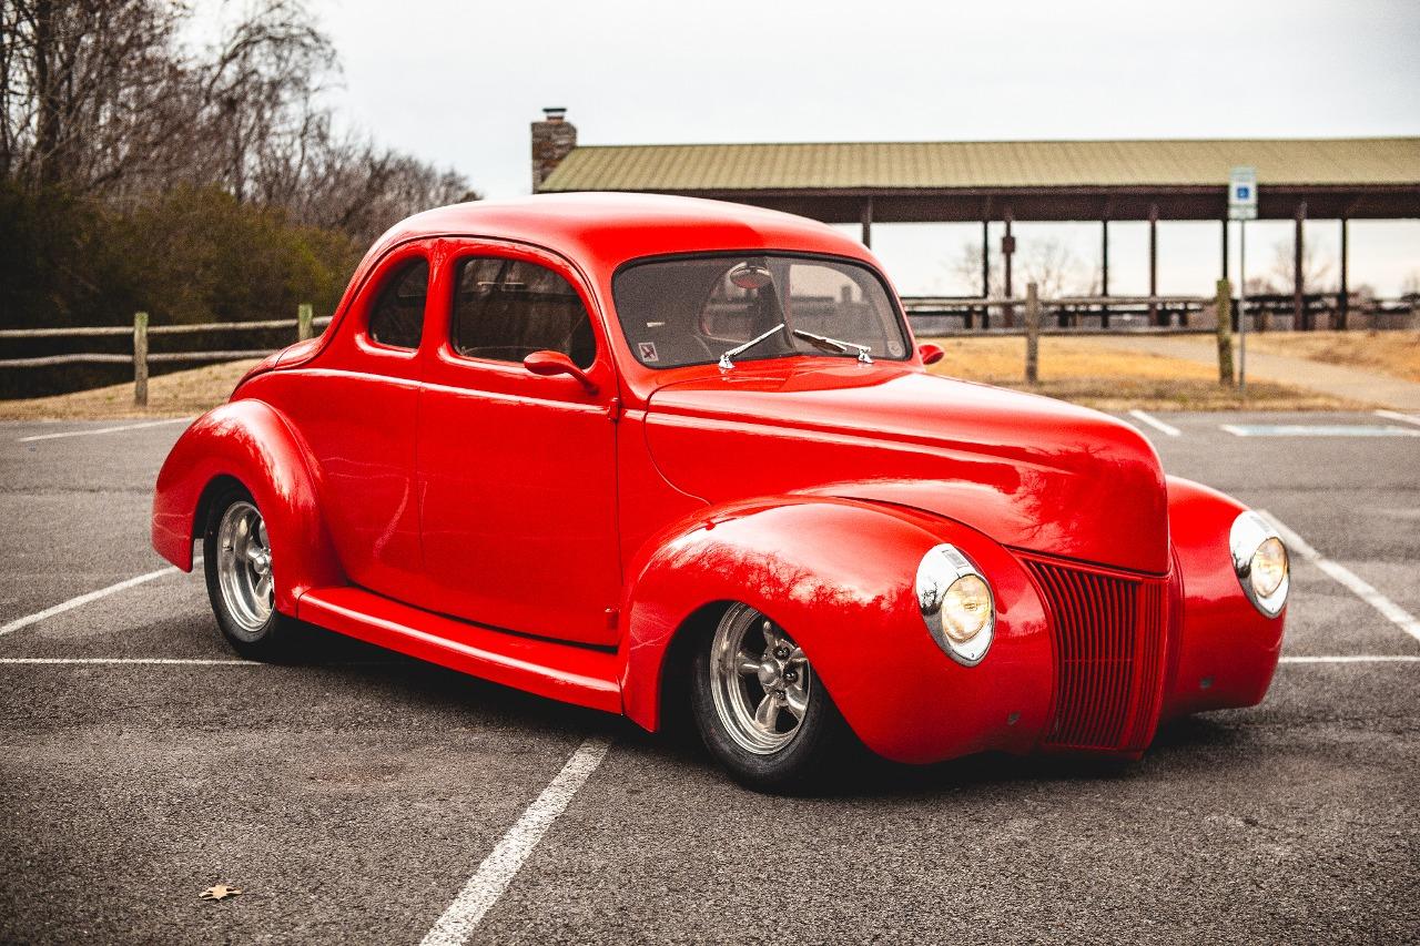
<svg viewBox="0 0 1420 946">
<path fill-rule="evenodd" d="M 500 254 L 552 268 L 582 293 L 561 259 L 524 246 L 447 240 L 450 261 Z M 452 266 L 443 267 L 443 273 Z M 419 496 L 427 594 L 413 604 L 523 634 L 615 646 L 606 611 L 621 595 L 616 537 L 616 374 L 605 344 L 575 378 L 517 362 L 463 358 L 449 344 L 452 288 L 436 286 L 419 393 Z M 555 589 L 548 575 L 557 575 Z"/>
</svg>

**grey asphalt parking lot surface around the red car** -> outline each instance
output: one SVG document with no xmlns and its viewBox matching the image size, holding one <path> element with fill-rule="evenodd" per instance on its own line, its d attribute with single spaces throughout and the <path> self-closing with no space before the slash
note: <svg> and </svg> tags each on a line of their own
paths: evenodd
<svg viewBox="0 0 1420 946">
<path fill-rule="evenodd" d="M 1137 763 L 882 766 L 816 798 L 332 635 L 236 662 L 197 574 L 24 622 L 165 568 L 183 425 L 0 425 L 0 940 L 1420 939 L 1420 418 L 1126 419 L 1315 553 L 1267 702 Z M 219 882 L 243 892 L 199 899 Z"/>
</svg>

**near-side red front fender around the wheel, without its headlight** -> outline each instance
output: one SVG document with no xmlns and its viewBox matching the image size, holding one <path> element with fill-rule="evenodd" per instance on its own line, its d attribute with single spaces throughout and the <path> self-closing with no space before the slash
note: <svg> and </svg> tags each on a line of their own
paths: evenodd
<svg viewBox="0 0 1420 946">
<path fill-rule="evenodd" d="M 941 652 L 917 609 L 917 565 L 943 541 L 997 597 L 995 638 L 974 668 Z M 646 729 L 659 723 L 672 639 L 728 601 L 784 626 L 858 737 L 888 759 L 1028 751 L 1049 713 L 1051 643 L 1034 585 L 1005 548 L 950 520 L 808 496 L 714 507 L 653 540 L 629 574 L 622 696 Z"/>
</svg>

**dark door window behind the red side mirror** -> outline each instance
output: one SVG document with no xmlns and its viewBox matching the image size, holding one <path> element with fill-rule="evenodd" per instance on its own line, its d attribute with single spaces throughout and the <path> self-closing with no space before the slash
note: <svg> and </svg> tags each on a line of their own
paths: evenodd
<svg viewBox="0 0 1420 946">
<path fill-rule="evenodd" d="M 454 351 L 469 358 L 520 362 L 559 351 L 578 368 L 596 361 L 592 320 L 577 290 L 535 263 L 460 260 L 450 328 Z"/>
</svg>

